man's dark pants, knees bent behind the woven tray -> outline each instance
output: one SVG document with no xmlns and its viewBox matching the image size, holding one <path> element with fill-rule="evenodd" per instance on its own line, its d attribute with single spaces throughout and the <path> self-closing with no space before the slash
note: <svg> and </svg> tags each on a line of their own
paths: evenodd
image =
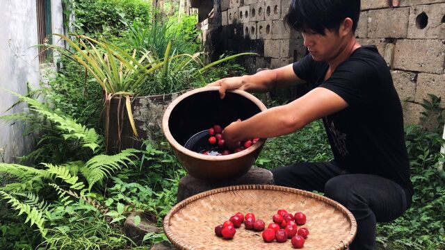
<svg viewBox="0 0 445 250">
<path fill-rule="evenodd" d="M 376 249 L 376 222 L 396 219 L 408 206 L 405 191 L 394 181 L 373 174 L 348 174 L 334 162 L 296 163 L 272 172 L 276 185 L 324 192 L 348 208 L 357 220 L 351 250 Z"/>
</svg>

